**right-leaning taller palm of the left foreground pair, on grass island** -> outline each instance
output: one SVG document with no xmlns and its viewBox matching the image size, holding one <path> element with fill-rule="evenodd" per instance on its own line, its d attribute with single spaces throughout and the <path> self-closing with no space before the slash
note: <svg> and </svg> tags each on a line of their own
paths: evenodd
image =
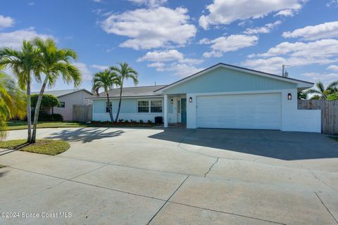
<svg viewBox="0 0 338 225">
<path fill-rule="evenodd" d="M 39 118 L 39 109 L 46 85 L 54 86 L 56 79 L 62 76 L 63 81 L 67 84 L 73 82 L 74 87 L 81 84 L 81 73 L 71 60 L 76 60 L 77 54 L 70 49 L 58 49 L 53 39 L 35 38 L 32 43 L 39 49 L 39 63 L 42 65 L 41 71 L 45 75 L 44 82 L 37 98 L 35 106 L 34 124 L 31 143 L 35 143 L 37 134 L 37 120 Z"/>
</svg>

